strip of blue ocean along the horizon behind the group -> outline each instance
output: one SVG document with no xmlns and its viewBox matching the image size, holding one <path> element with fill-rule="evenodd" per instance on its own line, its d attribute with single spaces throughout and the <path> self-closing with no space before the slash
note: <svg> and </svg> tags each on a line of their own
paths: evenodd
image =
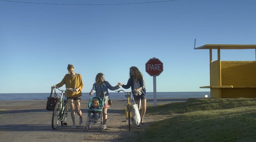
<svg viewBox="0 0 256 142">
<path fill-rule="evenodd" d="M 90 99 L 89 93 L 82 93 L 82 99 Z M 125 93 L 109 92 L 110 99 L 126 99 Z M 157 99 L 160 98 L 205 98 L 210 92 L 157 92 Z M 47 100 L 50 93 L 8 93 L 0 94 L 0 100 Z M 95 94 L 93 94 L 95 96 Z M 153 92 L 147 92 L 146 99 L 153 99 Z"/>
</svg>

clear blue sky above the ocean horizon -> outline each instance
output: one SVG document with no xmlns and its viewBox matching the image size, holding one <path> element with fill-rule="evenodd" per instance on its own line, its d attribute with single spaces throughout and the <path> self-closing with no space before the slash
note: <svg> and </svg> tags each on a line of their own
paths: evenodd
<svg viewBox="0 0 256 142">
<path fill-rule="evenodd" d="M 199 88 L 210 85 L 209 51 L 194 50 L 194 39 L 196 47 L 256 44 L 255 0 L 22 1 L 54 4 L 0 1 L 0 93 L 48 93 L 68 64 L 83 92 L 99 72 L 112 86 L 126 84 L 131 66 L 153 92 L 145 71 L 153 57 L 163 62 L 157 92 L 210 91 Z M 221 60 L 255 60 L 255 50 L 221 50 Z"/>
</svg>

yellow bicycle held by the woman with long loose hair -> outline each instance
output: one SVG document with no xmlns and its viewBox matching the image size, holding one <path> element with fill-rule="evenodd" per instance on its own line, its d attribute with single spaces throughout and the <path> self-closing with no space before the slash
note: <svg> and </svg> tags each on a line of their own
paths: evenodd
<svg viewBox="0 0 256 142">
<path fill-rule="evenodd" d="M 117 90 L 116 92 L 120 92 L 120 91 L 123 91 L 125 92 L 124 90 Z M 132 113 L 131 113 L 131 95 L 132 95 L 132 92 L 135 91 L 135 90 L 132 90 L 131 92 L 125 92 L 125 97 L 127 98 L 127 101 L 125 101 L 125 114 L 126 114 L 126 121 L 128 120 L 128 125 L 129 125 L 129 131 L 131 129 L 131 117 L 132 117 Z M 126 121 L 122 121 L 122 122 L 126 122 Z"/>
</svg>

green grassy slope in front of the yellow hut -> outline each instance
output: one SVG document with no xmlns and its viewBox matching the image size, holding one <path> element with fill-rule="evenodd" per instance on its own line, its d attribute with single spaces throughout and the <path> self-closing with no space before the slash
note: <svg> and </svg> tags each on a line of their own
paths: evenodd
<svg viewBox="0 0 256 142">
<path fill-rule="evenodd" d="M 147 115 L 169 114 L 153 122 L 137 141 L 255 141 L 256 99 L 190 99 L 147 107 Z"/>
</svg>

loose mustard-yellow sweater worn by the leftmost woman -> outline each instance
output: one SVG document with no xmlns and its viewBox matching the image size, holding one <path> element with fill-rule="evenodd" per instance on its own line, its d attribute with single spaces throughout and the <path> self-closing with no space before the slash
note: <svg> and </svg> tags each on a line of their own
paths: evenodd
<svg viewBox="0 0 256 142">
<path fill-rule="evenodd" d="M 63 85 L 66 85 L 66 88 L 78 88 L 79 87 L 79 91 L 77 92 L 77 94 L 71 90 L 67 90 L 65 97 L 72 97 L 72 98 L 76 98 L 79 96 L 82 96 L 82 89 L 83 89 L 83 81 L 82 81 L 82 76 L 80 74 L 76 74 L 75 76 L 71 76 L 69 74 L 66 74 L 64 76 L 64 78 L 61 80 L 60 83 L 56 84 L 57 87 L 61 87 Z"/>
</svg>

